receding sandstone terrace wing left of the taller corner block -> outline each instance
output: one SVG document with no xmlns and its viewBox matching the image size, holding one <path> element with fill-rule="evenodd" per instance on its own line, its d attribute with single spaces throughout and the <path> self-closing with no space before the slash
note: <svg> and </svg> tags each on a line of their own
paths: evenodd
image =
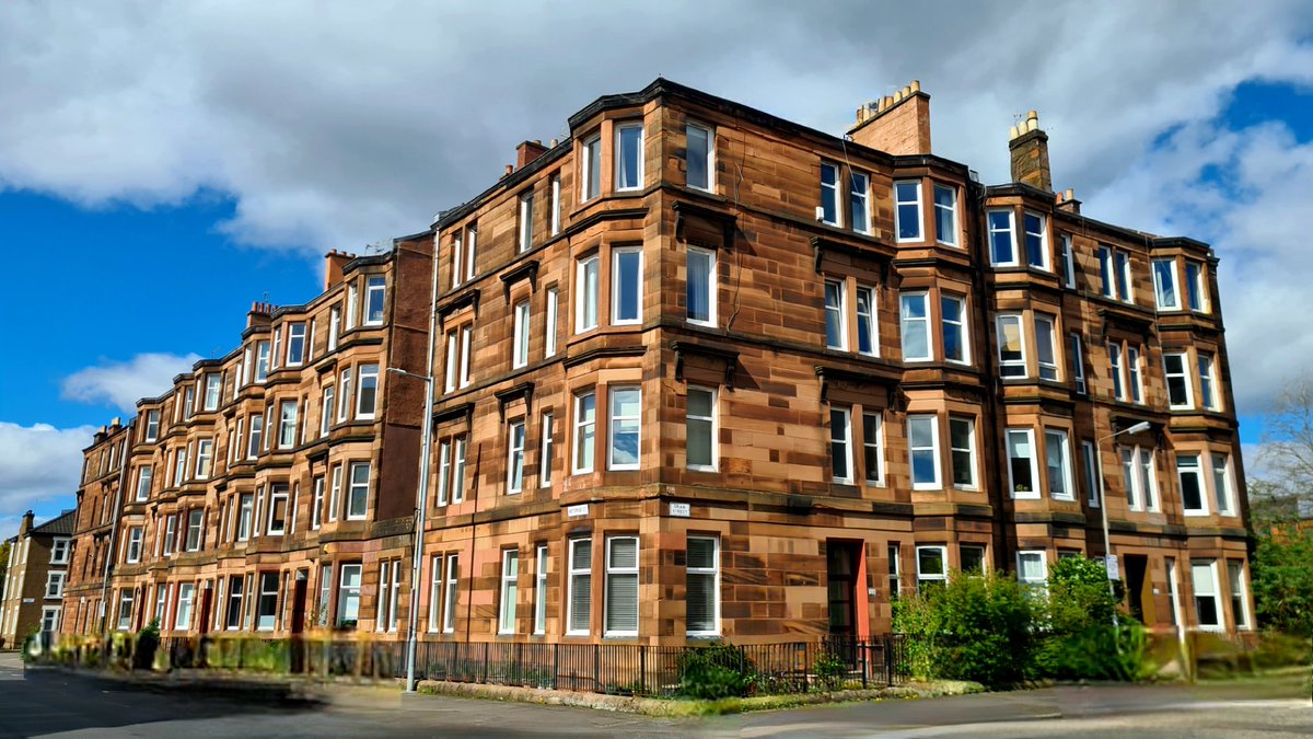
<svg viewBox="0 0 1313 739">
<path fill-rule="evenodd" d="M 362 564 L 412 542 L 424 384 L 387 370 L 424 371 L 429 245 L 330 252 L 322 295 L 253 305 L 236 348 L 96 434 L 66 632 L 282 636 L 373 614 Z"/>
</svg>

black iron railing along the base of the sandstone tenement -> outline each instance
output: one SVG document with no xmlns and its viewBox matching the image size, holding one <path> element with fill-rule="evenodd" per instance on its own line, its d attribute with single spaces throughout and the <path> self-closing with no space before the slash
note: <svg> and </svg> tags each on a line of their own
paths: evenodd
<svg viewBox="0 0 1313 739">
<path fill-rule="evenodd" d="M 140 668 L 137 639 L 67 638 L 43 661 L 72 667 Z M 909 679 L 902 634 L 823 636 L 769 644 L 647 646 L 544 642 L 420 642 L 420 680 L 546 688 L 620 696 L 674 696 L 689 665 L 716 663 L 743 676 L 744 692 L 805 693 L 872 688 Z M 406 643 L 360 636 L 260 639 L 206 635 L 160 639 L 155 669 L 394 680 L 406 675 Z"/>
</svg>

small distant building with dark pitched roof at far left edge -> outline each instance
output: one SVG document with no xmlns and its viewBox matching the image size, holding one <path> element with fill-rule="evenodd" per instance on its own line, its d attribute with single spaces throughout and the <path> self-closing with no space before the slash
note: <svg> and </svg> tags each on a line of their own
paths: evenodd
<svg viewBox="0 0 1313 739">
<path fill-rule="evenodd" d="M 9 539 L 9 567 L 0 585 L 0 648 L 18 648 L 32 632 L 42 638 L 60 630 L 64 581 L 74 534 L 72 510 L 33 526 L 29 510 Z"/>
</svg>

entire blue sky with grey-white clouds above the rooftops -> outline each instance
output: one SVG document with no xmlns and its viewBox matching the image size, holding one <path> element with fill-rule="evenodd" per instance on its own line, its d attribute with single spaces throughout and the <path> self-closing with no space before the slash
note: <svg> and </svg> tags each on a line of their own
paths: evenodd
<svg viewBox="0 0 1313 739">
<path fill-rule="evenodd" d="M 986 181 L 1039 109 L 1087 214 L 1217 249 L 1257 444 L 1313 360 L 1305 5 L 5 4 L 0 535 L 71 506 L 91 430 L 232 348 L 252 301 L 314 296 L 328 249 L 424 229 L 517 142 L 658 75 L 832 133 L 919 79 L 935 151 Z M 1053 42 L 994 43 L 1019 22 Z"/>
</svg>

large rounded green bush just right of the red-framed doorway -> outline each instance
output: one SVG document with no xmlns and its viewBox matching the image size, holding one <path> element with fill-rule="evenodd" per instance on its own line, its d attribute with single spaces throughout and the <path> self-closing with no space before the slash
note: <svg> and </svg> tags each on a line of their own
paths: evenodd
<svg viewBox="0 0 1313 739">
<path fill-rule="evenodd" d="M 894 630 L 907 635 L 913 675 L 923 679 L 1014 685 L 1025 677 L 1031 625 L 1031 596 L 1004 572 L 955 572 L 894 604 Z"/>
</svg>

